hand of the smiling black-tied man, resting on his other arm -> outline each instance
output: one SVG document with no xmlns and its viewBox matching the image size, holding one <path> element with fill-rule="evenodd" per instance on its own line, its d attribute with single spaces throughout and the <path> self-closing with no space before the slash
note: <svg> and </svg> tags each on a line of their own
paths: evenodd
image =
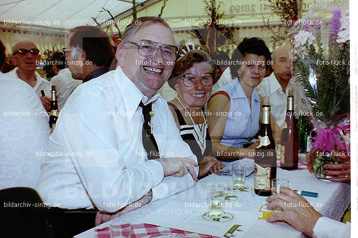
<svg viewBox="0 0 358 238">
<path fill-rule="evenodd" d="M 181 177 L 190 173 L 193 179 L 197 181 L 193 166 L 197 167 L 198 165 L 190 158 L 157 158 L 155 160 L 163 166 L 164 176 Z"/>
</svg>

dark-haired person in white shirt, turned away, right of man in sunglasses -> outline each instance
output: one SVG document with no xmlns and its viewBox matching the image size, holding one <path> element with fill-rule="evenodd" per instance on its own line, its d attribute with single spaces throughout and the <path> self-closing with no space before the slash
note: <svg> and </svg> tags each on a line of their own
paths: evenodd
<svg viewBox="0 0 358 238">
<path fill-rule="evenodd" d="M 63 52 L 55 52 L 52 56 L 52 71 L 56 76 L 51 78 L 51 84 L 56 86 L 57 104 L 61 110 L 73 90 L 82 84 L 82 80 L 75 80 L 69 68 L 65 68 L 65 58 Z"/>
</svg>

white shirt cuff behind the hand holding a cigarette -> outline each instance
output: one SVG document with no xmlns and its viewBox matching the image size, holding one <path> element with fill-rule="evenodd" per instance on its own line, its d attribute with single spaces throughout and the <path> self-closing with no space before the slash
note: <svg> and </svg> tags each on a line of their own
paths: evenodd
<svg viewBox="0 0 358 238">
<path fill-rule="evenodd" d="M 313 231 L 313 236 L 317 238 L 347 238 L 350 237 L 350 223 L 321 217 L 318 219 Z"/>
</svg>

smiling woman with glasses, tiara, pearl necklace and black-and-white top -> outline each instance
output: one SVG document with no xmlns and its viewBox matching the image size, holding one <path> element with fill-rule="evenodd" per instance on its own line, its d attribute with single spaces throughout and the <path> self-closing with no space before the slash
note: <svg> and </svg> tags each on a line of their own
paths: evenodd
<svg viewBox="0 0 358 238">
<path fill-rule="evenodd" d="M 218 79 L 217 72 L 216 62 L 205 51 L 193 49 L 176 61 L 168 81 L 177 92 L 177 97 L 168 105 L 183 141 L 197 158 L 199 178 L 223 168 L 221 162 L 211 156 L 207 111 L 204 108 Z"/>
</svg>

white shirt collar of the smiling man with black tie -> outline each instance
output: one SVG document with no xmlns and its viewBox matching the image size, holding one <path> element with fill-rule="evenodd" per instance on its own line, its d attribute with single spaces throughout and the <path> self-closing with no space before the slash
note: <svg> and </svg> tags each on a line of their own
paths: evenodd
<svg viewBox="0 0 358 238">
<path fill-rule="evenodd" d="M 155 102 L 158 98 L 164 100 L 160 93 L 156 93 L 149 100 L 145 96 L 127 75 L 124 74 L 121 67 L 117 67 L 115 70 L 115 80 L 123 96 L 124 107 L 126 110 L 128 122 L 133 118 L 138 110 L 139 103 L 142 101 L 144 105 Z"/>
</svg>

